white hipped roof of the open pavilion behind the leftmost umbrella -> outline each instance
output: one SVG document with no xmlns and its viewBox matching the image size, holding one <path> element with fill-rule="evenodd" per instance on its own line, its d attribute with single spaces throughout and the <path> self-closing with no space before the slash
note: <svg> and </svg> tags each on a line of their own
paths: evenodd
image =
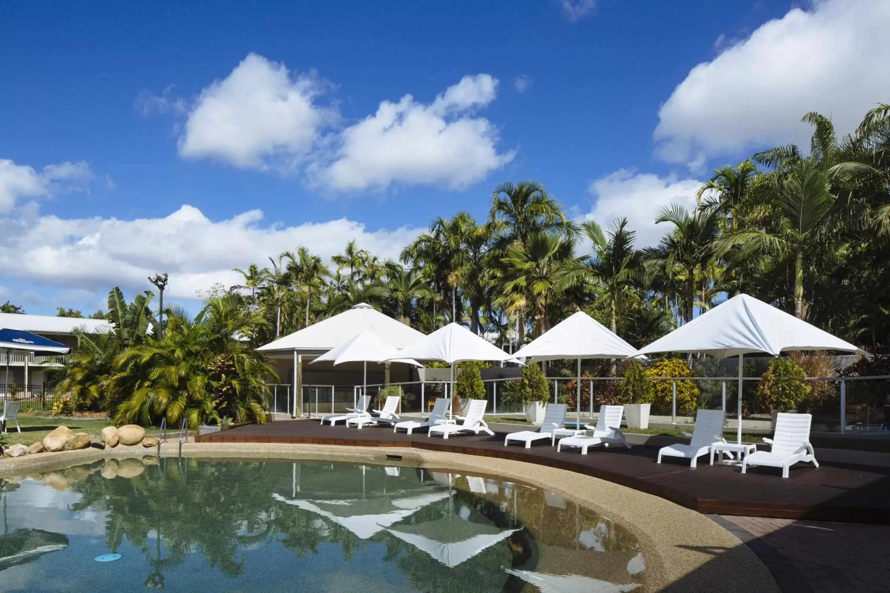
<svg viewBox="0 0 890 593">
<path fill-rule="evenodd" d="M 263 352 L 327 352 L 362 332 L 377 336 L 395 348 L 405 348 L 422 339 L 423 333 L 387 317 L 367 303 L 359 303 L 339 315 L 289 333 L 258 348 Z"/>
</svg>

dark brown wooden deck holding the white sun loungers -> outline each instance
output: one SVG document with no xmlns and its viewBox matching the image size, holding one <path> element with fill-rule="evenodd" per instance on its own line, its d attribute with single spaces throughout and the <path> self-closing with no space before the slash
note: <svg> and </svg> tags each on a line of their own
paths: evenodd
<svg viewBox="0 0 890 593">
<path fill-rule="evenodd" d="M 393 434 L 392 429 L 368 427 L 346 429 L 320 426 L 318 421 L 279 421 L 250 425 L 204 435 L 201 443 L 293 443 L 414 447 L 432 451 L 484 455 L 568 469 L 634 488 L 676 502 L 700 513 L 750 517 L 805 518 L 890 525 L 890 469 L 823 463 L 815 469 L 808 463 L 791 468 L 788 479 L 774 468 L 748 469 L 710 466 L 701 457 L 699 467 L 674 458 L 655 462 L 657 447 L 636 445 L 556 453 L 549 442 L 530 449 L 504 446 L 503 434 L 495 437 L 461 436 L 443 439 L 424 433 Z"/>
</svg>

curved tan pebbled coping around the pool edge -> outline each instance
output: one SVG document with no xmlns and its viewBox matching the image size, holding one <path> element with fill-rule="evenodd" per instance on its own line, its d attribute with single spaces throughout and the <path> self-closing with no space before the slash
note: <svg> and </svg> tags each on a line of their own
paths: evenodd
<svg viewBox="0 0 890 593">
<path fill-rule="evenodd" d="M 176 456 L 177 444 L 161 445 L 161 455 Z M 0 477 L 21 477 L 79 463 L 126 457 L 154 458 L 142 446 L 39 453 L 0 460 Z M 766 565 L 740 539 L 710 518 L 657 496 L 565 469 L 524 461 L 405 447 L 349 445 L 211 444 L 182 445 L 182 456 L 198 459 L 271 461 L 368 461 L 431 469 L 454 469 L 516 480 L 544 488 L 594 509 L 626 527 L 640 542 L 649 591 L 780 591 Z"/>
</svg>

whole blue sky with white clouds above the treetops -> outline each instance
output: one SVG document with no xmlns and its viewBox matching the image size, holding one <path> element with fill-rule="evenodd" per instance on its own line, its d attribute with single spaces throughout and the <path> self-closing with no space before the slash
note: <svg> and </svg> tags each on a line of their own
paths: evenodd
<svg viewBox="0 0 890 593">
<path fill-rule="evenodd" d="M 392 256 L 502 180 L 651 243 L 714 166 L 890 100 L 887 25 L 844 0 L 5 3 L 0 301 L 93 310 L 160 271 L 189 300 L 297 244 Z"/>
</svg>

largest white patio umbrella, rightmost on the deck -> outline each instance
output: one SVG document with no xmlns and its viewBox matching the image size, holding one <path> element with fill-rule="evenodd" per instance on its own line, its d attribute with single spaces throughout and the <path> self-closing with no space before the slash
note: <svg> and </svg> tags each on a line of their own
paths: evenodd
<svg viewBox="0 0 890 593">
<path fill-rule="evenodd" d="M 823 332 L 764 301 L 739 294 L 686 325 L 640 349 L 655 352 L 700 352 L 718 360 L 739 357 L 739 428 L 741 443 L 742 361 L 746 354 L 765 352 L 778 357 L 791 350 L 863 352 L 848 341 Z M 864 352 L 863 352 L 864 353 Z"/>
</svg>

